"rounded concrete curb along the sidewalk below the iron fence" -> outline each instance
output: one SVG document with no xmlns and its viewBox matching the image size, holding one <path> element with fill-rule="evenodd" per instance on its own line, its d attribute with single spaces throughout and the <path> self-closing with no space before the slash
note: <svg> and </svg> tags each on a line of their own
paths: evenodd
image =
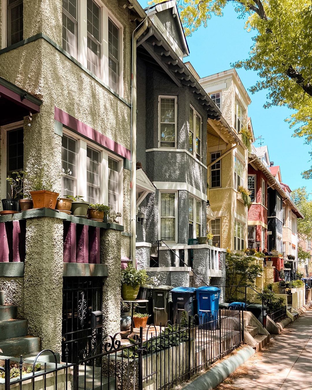
<svg viewBox="0 0 312 390">
<path fill-rule="evenodd" d="M 236 351 L 235 355 L 217 363 L 214 367 L 209 369 L 209 371 L 199 374 L 199 376 L 191 379 L 190 383 L 186 383 L 186 385 L 183 386 L 183 390 L 213 390 L 254 354 L 254 348 L 249 345 L 244 346 L 239 351 Z"/>
</svg>

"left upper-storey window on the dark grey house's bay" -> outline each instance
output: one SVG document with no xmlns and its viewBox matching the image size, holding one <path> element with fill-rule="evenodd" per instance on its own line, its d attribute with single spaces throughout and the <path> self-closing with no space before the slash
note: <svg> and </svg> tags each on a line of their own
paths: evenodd
<svg viewBox="0 0 312 390">
<path fill-rule="evenodd" d="M 159 97 L 160 147 L 176 147 L 176 97 Z"/>
</svg>

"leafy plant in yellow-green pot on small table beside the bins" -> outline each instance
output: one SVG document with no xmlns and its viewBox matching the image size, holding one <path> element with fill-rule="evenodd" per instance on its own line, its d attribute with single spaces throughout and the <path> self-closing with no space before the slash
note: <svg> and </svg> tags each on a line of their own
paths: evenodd
<svg viewBox="0 0 312 390">
<path fill-rule="evenodd" d="M 121 296 L 125 301 L 134 301 L 140 289 L 140 286 L 147 284 L 149 277 L 145 269 L 135 269 L 128 264 L 126 269 L 121 271 Z"/>
</svg>

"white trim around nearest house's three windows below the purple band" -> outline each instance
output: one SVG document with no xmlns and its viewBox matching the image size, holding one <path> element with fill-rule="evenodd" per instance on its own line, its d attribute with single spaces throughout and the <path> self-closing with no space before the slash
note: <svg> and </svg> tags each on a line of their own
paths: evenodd
<svg viewBox="0 0 312 390">
<path fill-rule="evenodd" d="M 78 156 L 78 167 L 77 167 L 77 195 L 81 195 L 84 198 L 87 197 L 87 146 L 101 153 L 100 155 L 100 201 L 99 203 L 108 205 L 108 157 L 113 158 L 116 161 L 119 161 L 119 210 L 123 215 L 123 160 L 119 156 L 116 156 L 113 153 L 108 152 L 106 149 L 101 148 L 100 146 L 93 144 L 85 138 L 80 138 L 76 133 L 69 131 L 66 128 L 63 128 L 63 135 L 73 138 L 77 141 L 77 156 Z M 82 170 L 81 167 L 86 167 L 85 170 Z M 119 217 L 119 223 L 122 225 L 122 216 Z"/>
</svg>

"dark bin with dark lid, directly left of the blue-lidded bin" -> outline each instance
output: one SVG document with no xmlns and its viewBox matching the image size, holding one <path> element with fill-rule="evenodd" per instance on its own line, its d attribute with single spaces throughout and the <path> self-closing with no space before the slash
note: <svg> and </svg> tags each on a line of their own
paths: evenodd
<svg viewBox="0 0 312 390">
<path fill-rule="evenodd" d="M 170 302 L 172 286 L 153 286 L 152 287 L 152 311 L 153 324 L 165 326 L 170 319 Z"/>
</svg>

